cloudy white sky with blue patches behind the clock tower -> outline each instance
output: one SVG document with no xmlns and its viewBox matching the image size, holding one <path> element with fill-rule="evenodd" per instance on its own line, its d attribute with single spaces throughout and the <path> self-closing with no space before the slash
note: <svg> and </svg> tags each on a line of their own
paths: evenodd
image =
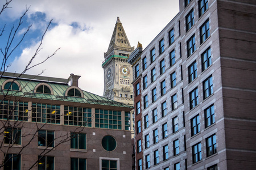
<svg viewBox="0 0 256 170">
<path fill-rule="evenodd" d="M 0 0 L 2 7 L 6 0 Z M 143 48 L 179 12 L 179 0 L 14 0 L 11 8 L 0 15 L 0 28 L 15 24 L 26 6 L 30 9 L 24 18 L 18 37 L 32 24 L 30 33 L 16 52 L 11 56 L 9 72 L 24 70 L 28 59 L 33 56 L 49 20 L 51 28 L 43 40 L 43 49 L 35 59 L 42 61 L 57 48 L 61 48 L 53 58 L 26 74 L 68 78 L 71 73 L 81 75 L 79 87 L 82 90 L 103 95 L 104 52 L 108 50 L 117 16 L 119 16 L 131 46 L 137 47 L 138 41 Z M 3 48 L 5 36 L 0 37 Z"/>
</svg>

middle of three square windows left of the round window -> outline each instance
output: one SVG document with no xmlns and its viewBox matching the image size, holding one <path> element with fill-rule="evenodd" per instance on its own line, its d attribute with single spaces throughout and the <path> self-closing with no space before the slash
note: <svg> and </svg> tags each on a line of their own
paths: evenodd
<svg viewBox="0 0 256 170">
<path fill-rule="evenodd" d="M 54 147 L 54 131 L 39 130 L 38 146 Z"/>
</svg>

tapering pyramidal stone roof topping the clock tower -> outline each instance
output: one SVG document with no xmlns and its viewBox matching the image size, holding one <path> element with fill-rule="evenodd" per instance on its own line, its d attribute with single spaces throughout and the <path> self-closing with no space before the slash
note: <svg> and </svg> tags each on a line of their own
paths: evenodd
<svg viewBox="0 0 256 170">
<path fill-rule="evenodd" d="M 123 29 L 123 25 L 117 17 L 117 23 L 115 23 L 115 28 L 112 34 L 112 38 L 109 43 L 109 50 L 112 50 L 116 46 L 118 47 L 124 47 L 124 48 L 131 48 L 130 42 L 126 36 L 125 29 Z"/>
</svg>

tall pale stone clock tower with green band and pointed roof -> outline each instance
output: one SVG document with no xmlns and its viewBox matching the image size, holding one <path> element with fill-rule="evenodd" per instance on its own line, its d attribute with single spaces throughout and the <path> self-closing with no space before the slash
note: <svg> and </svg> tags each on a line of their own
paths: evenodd
<svg viewBox="0 0 256 170">
<path fill-rule="evenodd" d="M 115 23 L 109 48 L 104 53 L 104 94 L 103 96 L 123 104 L 134 106 L 133 101 L 133 69 L 127 62 L 134 51 L 126 36 L 119 17 Z"/>
</svg>

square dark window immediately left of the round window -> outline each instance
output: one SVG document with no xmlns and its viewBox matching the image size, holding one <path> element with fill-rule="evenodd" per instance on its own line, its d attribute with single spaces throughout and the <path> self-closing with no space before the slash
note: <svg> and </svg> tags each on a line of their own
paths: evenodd
<svg viewBox="0 0 256 170">
<path fill-rule="evenodd" d="M 71 148 L 86 150 L 86 134 L 71 133 Z"/>
</svg>

